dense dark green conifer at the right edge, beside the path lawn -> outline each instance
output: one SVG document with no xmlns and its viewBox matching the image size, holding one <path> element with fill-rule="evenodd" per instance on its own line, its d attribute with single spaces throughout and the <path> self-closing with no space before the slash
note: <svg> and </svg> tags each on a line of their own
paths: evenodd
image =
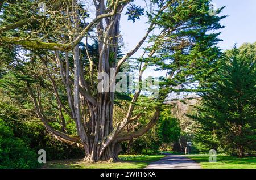
<svg viewBox="0 0 256 180">
<path fill-rule="evenodd" d="M 255 46 L 254 46 L 255 48 Z M 198 115 L 197 139 L 210 148 L 245 155 L 255 150 L 256 65 L 250 46 L 226 52 L 214 82 L 204 85 Z"/>
</svg>

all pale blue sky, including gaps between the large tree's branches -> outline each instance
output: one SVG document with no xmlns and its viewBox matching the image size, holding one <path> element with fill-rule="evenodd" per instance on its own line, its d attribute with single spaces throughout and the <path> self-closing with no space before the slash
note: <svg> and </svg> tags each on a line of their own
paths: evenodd
<svg viewBox="0 0 256 180">
<path fill-rule="evenodd" d="M 143 0 L 136 0 L 141 6 L 144 6 Z M 221 29 L 222 39 L 218 46 L 222 50 L 231 49 L 235 43 L 237 46 L 244 42 L 256 42 L 256 0 L 214 0 L 217 8 L 226 6 L 220 15 L 228 15 L 227 18 L 221 20 L 221 25 L 225 28 Z M 123 52 L 133 49 L 139 40 L 144 36 L 148 28 L 147 18 L 141 17 L 140 20 L 127 22 L 127 16 L 123 15 L 121 19 L 121 35 L 125 42 Z M 142 54 L 139 50 L 134 57 Z M 154 76 L 163 76 L 164 72 L 153 71 L 154 67 L 144 72 L 144 77 L 154 74 Z"/>
</svg>

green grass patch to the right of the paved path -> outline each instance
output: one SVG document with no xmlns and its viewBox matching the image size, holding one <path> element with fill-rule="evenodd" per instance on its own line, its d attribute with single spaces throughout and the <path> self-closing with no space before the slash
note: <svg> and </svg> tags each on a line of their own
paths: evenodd
<svg viewBox="0 0 256 180">
<path fill-rule="evenodd" d="M 217 162 L 209 162 L 209 155 L 186 155 L 186 157 L 199 162 L 204 169 L 256 169 L 256 157 L 217 155 Z"/>
</svg>

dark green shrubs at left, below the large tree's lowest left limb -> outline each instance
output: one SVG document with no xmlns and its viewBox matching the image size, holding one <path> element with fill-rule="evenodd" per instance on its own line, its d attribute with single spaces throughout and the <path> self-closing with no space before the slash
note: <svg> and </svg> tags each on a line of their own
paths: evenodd
<svg viewBox="0 0 256 180">
<path fill-rule="evenodd" d="M 1 93 L 0 97 L 2 97 Z M 28 112 L 20 112 L 10 103 L 7 104 L 4 97 L 0 100 L 0 118 L 5 119 L 3 122 L 6 128 L 9 128 L 15 137 L 26 142 L 28 147 L 36 152 L 39 149 L 46 150 L 47 160 L 84 157 L 82 149 L 57 141 L 48 134 L 38 118 Z"/>
</svg>

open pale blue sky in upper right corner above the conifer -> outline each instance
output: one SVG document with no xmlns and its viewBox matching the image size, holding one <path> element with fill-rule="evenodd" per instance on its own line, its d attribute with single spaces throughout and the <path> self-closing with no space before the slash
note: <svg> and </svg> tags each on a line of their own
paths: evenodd
<svg viewBox="0 0 256 180">
<path fill-rule="evenodd" d="M 229 17 L 221 20 L 225 28 L 219 36 L 221 49 L 230 49 L 237 42 L 256 42 L 256 1 L 255 0 L 216 0 L 218 7 L 226 6 L 221 15 Z"/>
</svg>

